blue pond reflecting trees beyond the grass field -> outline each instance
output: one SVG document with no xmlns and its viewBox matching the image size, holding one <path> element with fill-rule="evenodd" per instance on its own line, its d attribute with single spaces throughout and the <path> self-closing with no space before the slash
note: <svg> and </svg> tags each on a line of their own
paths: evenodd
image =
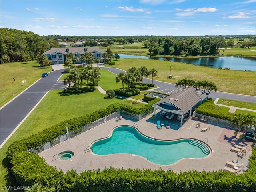
<svg viewBox="0 0 256 192">
<path fill-rule="evenodd" d="M 188 63 L 200 66 L 207 66 L 212 68 L 222 69 L 228 67 L 231 70 L 251 70 L 256 71 L 256 58 L 241 57 L 241 56 L 227 56 L 227 57 L 202 57 L 202 58 L 174 58 L 174 57 L 146 57 L 137 55 L 119 54 L 121 59 L 125 58 L 140 58 L 140 59 L 156 59 L 168 60 L 174 62 Z"/>
</svg>

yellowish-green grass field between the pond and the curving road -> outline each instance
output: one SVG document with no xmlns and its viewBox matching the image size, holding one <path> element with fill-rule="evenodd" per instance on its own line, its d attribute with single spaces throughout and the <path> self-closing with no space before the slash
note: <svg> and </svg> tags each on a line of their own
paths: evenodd
<svg viewBox="0 0 256 192">
<path fill-rule="evenodd" d="M 147 59 L 119 59 L 115 62 L 114 66 L 108 67 L 120 68 L 125 71 L 131 66 L 136 68 L 140 68 L 140 66 L 146 66 L 148 69 L 155 68 L 158 73 L 154 80 L 162 82 L 175 84 L 183 78 L 208 80 L 216 84 L 218 91 L 256 95 L 256 72 L 252 71 L 220 70 L 186 63 Z M 172 66 L 172 76 L 174 77 L 172 79 L 168 78 L 170 66 Z"/>
</svg>

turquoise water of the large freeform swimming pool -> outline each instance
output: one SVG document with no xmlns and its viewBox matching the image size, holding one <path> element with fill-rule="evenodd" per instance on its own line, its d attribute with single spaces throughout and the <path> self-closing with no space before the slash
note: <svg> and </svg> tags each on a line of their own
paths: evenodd
<svg viewBox="0 0 256 192">
<path fill-rule="evenodd" d="M 211 150 L 199 140 L 155 140 L 131 126 L 119 126 L 114 128 L 112 136 L 94 142 L 92 151 L 98 155 L 134 154 L 155 164 L 170 165 L 183 158 L 205 158 Z"/>
</svg>

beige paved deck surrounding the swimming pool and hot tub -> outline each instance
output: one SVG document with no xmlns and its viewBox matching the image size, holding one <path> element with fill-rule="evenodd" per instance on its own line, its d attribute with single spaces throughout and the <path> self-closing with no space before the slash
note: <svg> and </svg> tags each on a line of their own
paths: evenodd
<svg viewBox="0 0 256 192">
<path fill-rule="evenodd" d="M 229 128 L 224 128 L 216 125 L 210 125 L 210 130 L 206 132 L 201 132 L 200 129 L 204 128 L 206 123 L 201 122 L 201 128 L 196 128 L 198 121 L 189 119 L 181 128 L 178 130 L 166 129 L 164 126 L 162 129 L 157 129 L 156 120 L 152 120 L 152 115 L 136 122 L 131 119 L 122 118 L 119 121 L 115 119 L 109 120 L 104 124 L 96 126 L 91 130 L 88 130 L 68 141 L 62 142 L 41 152 L 39 155 L 44 157 L 46 163 L 56 168 L 62 169 L 64 172 L 67 170 L 76 170 L 77 172 L 82 172 L 84 170 L 103 170 L 104 168 L 132 168 L 132 169 L 151 169 L 151 170 L 168 170 L 172 168 L 174 172 L 184 172 L 188 170 L 198 170 L 198 171 L 218 171 L 223 169 L 226 161 L 232 162 L 232 160 L 239 160 L 244 163 L 244 170 L 248 168 L 248 160 L 251 155 L 252 142 L 247 142 L 244 140 L 239 140 L 234 137 L 234 130 Z M 208 138 L 206 142 L 212 149 L 212 154 L 206 158 L 202 159 L 183 159 L 172 165 L 158 165 L 154 164 L 145 158 L 137 155 L 131 154 L 112 154 L 106 156 L 96 155 L 91 151 L 86 151 L 86 146 L 91 146 L 92 142 L 99 140 L 100 138 L 105 138 L 110 135 L 111 130 L 116 126 L 121 125 L 133 125 L 138 123 L 138 130 L 143 134 L 154 137 L 156 139 L 178 139 L 178 138 L 196 138 L 199 140 L 204 140 Z M 164 123 L 164 122 L 161 122 Z M 247 153 L 243 158 L 237 157 L 237 153 L 231 152 L 230 148 L 234 144 L 240 144 L 245 146 L 248 144 L 249 153 Z M 74 152 L 74 156 L 70 160 L 58 160 L 53 156 L 60 152 L 71 150 Z M 173 154 L 175 155 L 175 154 Z"/>
</svg>

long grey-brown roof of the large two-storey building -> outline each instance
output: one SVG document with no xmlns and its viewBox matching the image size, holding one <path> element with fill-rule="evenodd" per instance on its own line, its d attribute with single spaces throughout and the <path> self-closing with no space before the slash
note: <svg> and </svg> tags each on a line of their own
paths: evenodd
<svg viewBox="0 0 256 192">
<path fill-rule="evenodd" d="M 66 50 L 69 51 L 66 51 Z M 84 51 L 87 49 L 87 51 Z M 44 52 L 44 54 L 52 54 L 54 52 L 61 52 L 63 54 L 68 54 L 68 53 L 80 53 L 84 54 L 85 52 L 100 52 L 100 53 L 105 53 L 105 51 L 100 50 L 98 47 L 52 47 L 50 50 Z"/>
</svg>

